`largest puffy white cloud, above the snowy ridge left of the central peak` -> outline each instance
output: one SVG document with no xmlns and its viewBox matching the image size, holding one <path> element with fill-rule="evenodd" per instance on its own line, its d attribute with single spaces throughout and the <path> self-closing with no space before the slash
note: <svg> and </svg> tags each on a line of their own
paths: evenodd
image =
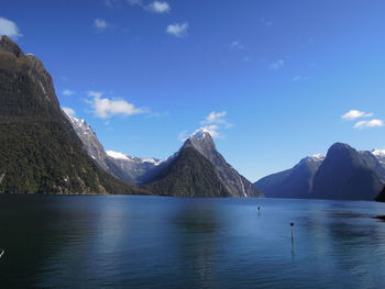
<svg viewBox="0 0 385 289">
<path fill-rule="evenodd" d="M 145 112 L 143 109 L 138 109 L 134 104 L 125 100 L 102 98 L 102 92 L 88 91 L 88 96 L 94 98 L 88 103 L 92 107 L 95 115 L 101 119 L 111 118 L 116 114 L 130 116 Z"/>
</svg>

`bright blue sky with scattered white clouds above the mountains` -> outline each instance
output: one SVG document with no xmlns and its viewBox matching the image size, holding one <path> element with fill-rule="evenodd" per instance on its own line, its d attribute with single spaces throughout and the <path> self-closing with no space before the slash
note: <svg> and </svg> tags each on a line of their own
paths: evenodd
<svg viewBox="0 0 385 289">
<path fill-rule="evenodd" d="M 384 15 L 382 0 L 3 0 L 0 32 L 106 149 L 165 158 L 205 125 L 255 181 L 334 142 L 385 148 Z"/>
</svg>

